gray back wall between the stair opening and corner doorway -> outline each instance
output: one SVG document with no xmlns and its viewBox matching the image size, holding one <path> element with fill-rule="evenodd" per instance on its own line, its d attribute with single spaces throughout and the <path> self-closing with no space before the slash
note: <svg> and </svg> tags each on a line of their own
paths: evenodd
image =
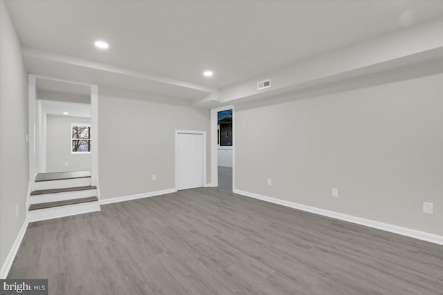
<svg viewBox="0 0 443 295">
<path fill-rule="evenodd" d="M 210 182 L 209 110 L 103 95 L 98 102 L 102 199 L 174 189 L 175 129 L 206 131 Z"/>
</svg>

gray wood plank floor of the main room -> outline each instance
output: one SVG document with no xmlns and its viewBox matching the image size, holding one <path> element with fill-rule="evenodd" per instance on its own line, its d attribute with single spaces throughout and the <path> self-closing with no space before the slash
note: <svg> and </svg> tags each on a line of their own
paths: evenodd
<svg viewBox="0 0 443 295">
<path fill-rule="evenodd" d="M 443 246 L 204 188 L 29 225 L 49 294 L 443 294 Z"/>
</svg>

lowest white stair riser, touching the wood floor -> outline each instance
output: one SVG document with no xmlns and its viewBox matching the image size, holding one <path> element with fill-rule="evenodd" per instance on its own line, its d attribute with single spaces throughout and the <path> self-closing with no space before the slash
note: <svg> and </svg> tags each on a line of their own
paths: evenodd
<svg viewBox="0 0 443 295">
<path fill-rule="evenodd" d="M 100 211 L 100 204 L 98 204 L 98 201 L 29 211 L 28 219 L 29 222 L 34 222 L 39 220 L 61 218 L 64 216 L 88 213 L 93 211 Z"/>
</svg>

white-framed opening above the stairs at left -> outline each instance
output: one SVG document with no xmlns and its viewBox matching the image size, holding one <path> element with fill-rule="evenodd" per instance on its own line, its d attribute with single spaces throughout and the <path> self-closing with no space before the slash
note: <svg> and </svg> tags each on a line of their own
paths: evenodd
<svg viewBox="0 0 443 295">
<path fill-rule="evenodd" d="M 29 75 L 30 189 L 98 178 L 98 86 Z"/>
</svg>

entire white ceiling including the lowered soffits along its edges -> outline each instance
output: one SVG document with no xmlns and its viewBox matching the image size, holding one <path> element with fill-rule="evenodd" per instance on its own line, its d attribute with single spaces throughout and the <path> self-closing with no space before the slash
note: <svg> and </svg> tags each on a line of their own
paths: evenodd
<svg viewBox="0 0 443 295">
<path fill-rule="evenodd" d="M 213 108 L 443 57 L 443 1 L 6 3 L 29 73 L 100 95 Z"/>
</svg>

